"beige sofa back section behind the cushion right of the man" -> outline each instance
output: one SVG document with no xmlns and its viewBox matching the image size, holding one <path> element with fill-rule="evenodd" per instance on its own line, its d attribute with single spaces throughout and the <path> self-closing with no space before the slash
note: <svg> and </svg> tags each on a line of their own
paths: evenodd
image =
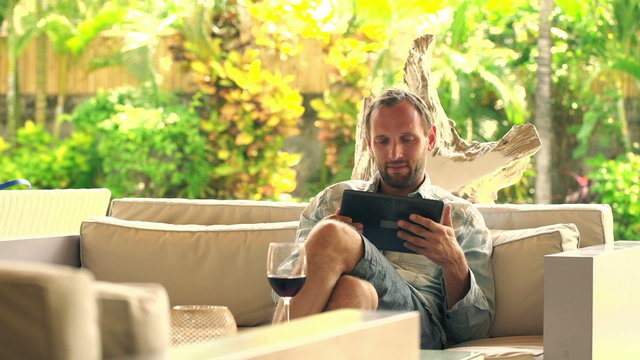
<svg viewBox="0 0 640 360">
<path fill-rule="evenodd" d="M 559 223 L 575 224 L 580 247 L 613 244 L 613 215 L 609 205 L 474 205 L 489 229 L 517 230 Z"/>
</svg>

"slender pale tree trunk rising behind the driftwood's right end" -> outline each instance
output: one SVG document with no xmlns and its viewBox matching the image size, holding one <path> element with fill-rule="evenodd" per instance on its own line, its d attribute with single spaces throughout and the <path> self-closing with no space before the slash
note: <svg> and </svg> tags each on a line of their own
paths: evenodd
<svg viewBox="0 0 640 360">
<path fill-rule="evenodd" d="M 536 203 L 551 203 L 552 112 L 551 112 L 551 10 L 553 0 L 540 0 L 538 37 L 538 73 L 535 100 L 535 124 L 542 139 L 536 155 Z"/>
</svg>

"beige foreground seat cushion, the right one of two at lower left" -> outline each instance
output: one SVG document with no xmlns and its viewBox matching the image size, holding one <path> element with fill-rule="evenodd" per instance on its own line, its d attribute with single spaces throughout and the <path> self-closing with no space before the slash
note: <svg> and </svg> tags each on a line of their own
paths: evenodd
<svg viewBox="0 0 640 360">
<path fill-rule="evenodd" d="M 159 284 L 94 283 L 104 359 L 159 356 L 169 348 L 169 298 Z"/>
</svg>

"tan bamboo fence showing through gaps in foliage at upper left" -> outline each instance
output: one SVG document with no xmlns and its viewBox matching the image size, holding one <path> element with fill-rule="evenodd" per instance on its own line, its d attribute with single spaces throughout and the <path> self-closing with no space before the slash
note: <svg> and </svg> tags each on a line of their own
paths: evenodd
<svg viewBox="0 0 640 360">
<path fill-rule="evenodd" d="M 90 95 L 101 89 L 112 89 L 125 85 L 138 85 L 136 78 L 124 67 L 107 67 L 89 71 L 91 59 L 113 54 L 120 49 L 122 39 L 117 36 L 100 36 L 96 38 L 78 58 L 67 74 L 67 95 Z M 160 38 L 155 56 L 155 65 L 162 76 L 162 87 L 170 91 L 194 92 L 196 85 L 190 74 L 180 63 L 173 61 L 169 46 L 171 35 Z M 302 53 L 282 61 L 276 56 L 263 56 L 265 68 L 279 71 L 284 75 L 292 75 L 291 85 L 302 93 L 322 93 L 327 86 L 326 67 L 322 62 L 322 49 L 313 40 L 306 40 Z M 0 36 L 0 95 L 7 92 L 7 50 L 6 37 Z M 60 74 L 60 56 L 56 55 L 50 44 L 46 51 L 46 92 L 49 95 L 58 93 Z M 36 93 L 36 50 L 35 41 L 25 49 L 19 61 L 20 94 Z"/>
</svg>

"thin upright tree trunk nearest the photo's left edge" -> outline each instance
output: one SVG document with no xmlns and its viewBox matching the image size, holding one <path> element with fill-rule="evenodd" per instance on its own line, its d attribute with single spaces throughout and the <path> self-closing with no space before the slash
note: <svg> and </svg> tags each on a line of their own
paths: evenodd
<svg viewBox="0 0 640 360">
<path fill-rule="evenodd" d="M 13 9 L 15 0 L 10 0 L 7 11 L 8 36 L 7 36 L 7 138 L 9 143 L 16 141 L 16 131 L 20 120 L 20 90 L 18 75 L 18 46 L 16 44 L 16 32 L 13 27 Z"/>
</svg>

